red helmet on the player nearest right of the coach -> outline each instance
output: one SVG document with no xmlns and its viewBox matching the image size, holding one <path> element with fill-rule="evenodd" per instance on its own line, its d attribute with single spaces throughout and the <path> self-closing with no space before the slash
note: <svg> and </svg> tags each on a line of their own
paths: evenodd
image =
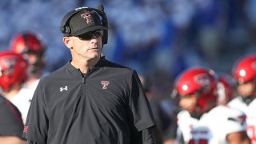
<svg viewBox="0 0 256 144">
<path fill-rule="evenodd" d="M 175 82 L 175 89 L 180 97 L 197 94 L 197 106 L 201 111 L 216 104 L 217 81 L 214 70 L 203 67 L 190 68 L 180 74 Z"/>
</svg>

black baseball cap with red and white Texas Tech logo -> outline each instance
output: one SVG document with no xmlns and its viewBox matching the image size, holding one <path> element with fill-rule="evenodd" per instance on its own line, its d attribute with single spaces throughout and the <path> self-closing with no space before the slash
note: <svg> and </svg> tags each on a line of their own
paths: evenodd
<svg viewBox="0 0 256 144">
<path fill-rule="evenodd" d="M 65 36 L 79 36 L 90 31 L 107 29 L 102 26 L 101 19 L 94 10 L 82 10 L 74 14 L 67 26 L 70 27 L 70 34 L 62 32 Z"/>
</svg>

